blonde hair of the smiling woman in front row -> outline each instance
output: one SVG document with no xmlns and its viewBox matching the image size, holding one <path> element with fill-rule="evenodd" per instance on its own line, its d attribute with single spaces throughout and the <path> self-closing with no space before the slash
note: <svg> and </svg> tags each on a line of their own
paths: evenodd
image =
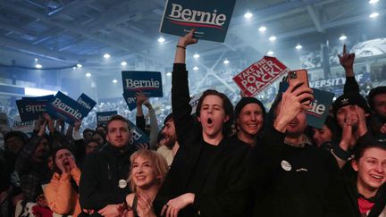
<svg viewBox="0 0 386 217">
<path fill-rule="evenodd" d="M 158 187 L 160 187 L 164 183 L 164 179 L 169 169 L 169 166 L 166 160 L 164 159 L 164 156 L 152 150 L 140 149 L 135 153 L 131 154 L 130 156 L 130 173 L 128 182 L 130 184 L 132 192 L 137 192 L 137 185 L 132 179 L 133 174 L 131 171 L 133 169 L 134 160 L 137 159 L 138 156 L 150 161 L 152 167 L 154 167 L 155 169 L 155 173 L 158 179 Z"/>
</svg>

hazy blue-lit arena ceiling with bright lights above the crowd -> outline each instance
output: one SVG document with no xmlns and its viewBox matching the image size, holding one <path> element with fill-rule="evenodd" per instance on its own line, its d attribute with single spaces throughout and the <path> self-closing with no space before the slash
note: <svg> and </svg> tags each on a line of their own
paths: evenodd
<svg viewBox="0 0 386 217">
<path fill-rule="evenodd" d="M 177 37 L 159 32 L 164 0 L 0 0 L 0 63 L 44 69 L 81 63 L 104 76 L 127 69 L 168 71 Z M 376 11 L 377 21 L 369 18 Z M 246 19 L 244 14 L 253 14 Z M 258 60 L 270 50 L 287 55 L 302 44 L 327 40 L 384 38 L 386 3 L 380 0 L 237 0 L 225 43 L 200 41 L 188 63 L 210 70 L 224 59 Z M 372 24 L 369 24 L 369 23 Z M 265 32 L 259 27 L 264 25 Z M 379 25 L 379 26 L 377 26 Z M 269 37 L 276 41 L 270 42 Z M 164 43 L 157 39 L 164 37 Z M 108 60 L 105 53 L 111 55 Z M 198 59 L 193 54 L 199 54 Z M 249 60 L 250 59 L 250 60 Z M 197 72 L 205 75 L 206 71 Z M 83 72 L 82 72 L 83 73 Z M 63 77 L 74 76 L 64 73 Z"/>
</svg>

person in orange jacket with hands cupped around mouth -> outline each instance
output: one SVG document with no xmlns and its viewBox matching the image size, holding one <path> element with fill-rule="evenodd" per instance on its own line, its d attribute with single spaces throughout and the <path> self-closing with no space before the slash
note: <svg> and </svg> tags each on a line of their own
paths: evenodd
<svg viewBox="0 0 386 217">
<path fill-rule="evenodd" d="M 55 213 L 78 216 L 81 212 L 78 193 L 80 169 L 71 149 L 65 146 L 57 148 L 53 162 L 55 173 L 45 188 L 48 206 Z"/>
</svg>

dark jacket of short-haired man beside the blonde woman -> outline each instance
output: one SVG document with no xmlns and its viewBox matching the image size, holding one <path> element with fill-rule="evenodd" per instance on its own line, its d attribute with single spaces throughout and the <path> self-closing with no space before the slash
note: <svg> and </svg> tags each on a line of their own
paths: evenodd
<svg viewBox="0 0 386 217">
<path fill-rule="evenodd" d="M 129 184 L 119 188 L 120 179 L 128 179 L 130 155 L 135 146 L 126 146 L 123 151 L 105 145 L 100 152 L 86 156 L 80 176 L 80 205 L 83 209 L 100 210 L 107 204 L 121 204 L 130 194 Z"/>
</svg>

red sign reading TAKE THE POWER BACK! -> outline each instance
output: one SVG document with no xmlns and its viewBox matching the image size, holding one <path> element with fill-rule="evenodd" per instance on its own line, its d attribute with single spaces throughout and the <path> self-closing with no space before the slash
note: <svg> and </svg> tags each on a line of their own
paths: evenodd
<svg viewBox="0 0 386 217">
<path fill-rule="evenodd" d="M 273 81 L 290 70 L 278 59 L 264 56 L 261 60 L 241 71 L 233 80 L 247 96 L 256 96 Z"/>
</svg>

